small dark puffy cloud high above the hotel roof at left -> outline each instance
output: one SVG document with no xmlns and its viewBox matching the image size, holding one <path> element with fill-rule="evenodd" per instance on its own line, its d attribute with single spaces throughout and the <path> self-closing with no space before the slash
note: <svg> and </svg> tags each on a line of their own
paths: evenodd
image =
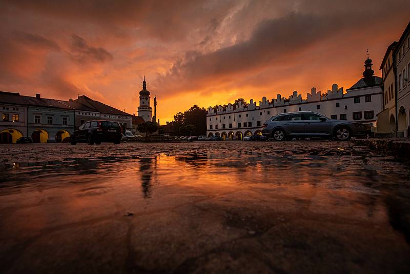
<svg viewBox="0 0 410 274">
<path fill-rule="evenodd" d="M 91 47 L 87 41 L 78 35 L 71 35 L 70 50 L 72 57 L 79 63 L 86 62 L 107 62 L 113 59 L 111 53 L 101 47 Z"/>
</svg>

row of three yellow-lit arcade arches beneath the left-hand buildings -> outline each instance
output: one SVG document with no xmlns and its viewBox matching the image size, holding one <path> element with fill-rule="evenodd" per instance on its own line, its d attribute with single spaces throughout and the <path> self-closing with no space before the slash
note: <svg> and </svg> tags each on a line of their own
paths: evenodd
<svg viewBox="0 0 410 274">
<path fill-rule="evenodd" d="M 18 129 L 8 128 L 0 131 L 0 144 L 15 144 L 24 134 Z M 33 143 L 48 143 L 49 132 L 45 129 L 35 129 L 31 133 L 31 140 Z M 70 141 L 70 132 L 62 129 L 55 134 L 55 142 L 66 143 Z"/>
</svg>

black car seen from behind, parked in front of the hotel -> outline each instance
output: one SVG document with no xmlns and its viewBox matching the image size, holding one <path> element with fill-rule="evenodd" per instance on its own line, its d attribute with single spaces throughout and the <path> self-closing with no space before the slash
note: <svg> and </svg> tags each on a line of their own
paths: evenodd
<svg viewBox="0 0 410 274">
<path fill-rule="evenodd" d="M 122 128 L 113 121 L 88 121 L 75 130 L 70 136 L 70 142 L 86 142 L 89 145 L 101 142 L 113 142 L 119 144 L 122 138 Z"/>
</svg>

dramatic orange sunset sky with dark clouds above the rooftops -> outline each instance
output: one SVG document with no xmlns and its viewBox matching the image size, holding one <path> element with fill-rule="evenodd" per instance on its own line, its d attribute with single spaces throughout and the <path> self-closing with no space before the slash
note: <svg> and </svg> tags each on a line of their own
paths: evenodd
<svg viewBox="0 0 410 274">
<path fill-rule="evenodd" d="M 77 94 L 137 113 L 146 75 L 161 124 L 194 104 L 257 102 L 360 79 L 410 1 L 1 1 L 0 90 Z"/>
</svg>

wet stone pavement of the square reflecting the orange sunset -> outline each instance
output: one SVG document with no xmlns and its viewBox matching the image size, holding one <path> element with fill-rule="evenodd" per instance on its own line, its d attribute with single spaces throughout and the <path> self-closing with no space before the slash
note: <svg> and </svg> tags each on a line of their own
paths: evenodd
<svg viewBox="0 0 410 274">
<path fill-rule="evenodd" d="M 352 142 L 0 146 L 0 271 L 408 272 L 410 173 Z"/>
</svg>

